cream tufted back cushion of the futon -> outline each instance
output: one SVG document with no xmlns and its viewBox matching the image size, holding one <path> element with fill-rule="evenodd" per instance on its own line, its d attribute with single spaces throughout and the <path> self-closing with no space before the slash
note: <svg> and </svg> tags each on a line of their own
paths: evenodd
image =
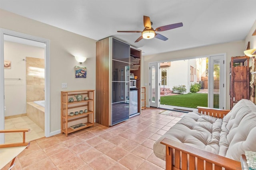
<svg viewBox="0 0 256 170">
<path fill-rule="evenodd" d="M 240 161 L 244 150 L 256 152 L 256 106 L 245 99 L 223 118 L 219 154 Z"/>
</svg>

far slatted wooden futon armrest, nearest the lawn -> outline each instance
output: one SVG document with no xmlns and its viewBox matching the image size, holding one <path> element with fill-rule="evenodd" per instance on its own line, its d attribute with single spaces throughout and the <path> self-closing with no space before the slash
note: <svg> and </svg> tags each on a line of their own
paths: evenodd
<svg viewBox="0 0 256 170">
<path fill-rule="evenodd" d="M 225 110 L 225 109 L 214 109 L 210 107 L 201 107 L 198 106 L 198 113 L 204 114 L 204 115 L 209 115 L 212 117 L 217 117 L 217 118 L 223 118 L 225 115 L 230 112 L 230 110 Z"/>
</svg>

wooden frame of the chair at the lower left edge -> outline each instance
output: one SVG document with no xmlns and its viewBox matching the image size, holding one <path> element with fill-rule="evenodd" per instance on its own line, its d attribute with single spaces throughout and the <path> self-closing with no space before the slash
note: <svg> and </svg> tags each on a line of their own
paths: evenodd
<svg viewBox="0 0 256 170">
<path fill-rule="evenodd" d="M 8 147 L 21 147 L 21 146 L 29 146 L 29 142 L 26 143 L 26 132 L 29 132 L 30 129 L 6 129 L 0 130 L 0 133 L 23 133 L 22 143 L 7 143 L 0 144 L 0 148 L 8 148 Z"/>
</svg>

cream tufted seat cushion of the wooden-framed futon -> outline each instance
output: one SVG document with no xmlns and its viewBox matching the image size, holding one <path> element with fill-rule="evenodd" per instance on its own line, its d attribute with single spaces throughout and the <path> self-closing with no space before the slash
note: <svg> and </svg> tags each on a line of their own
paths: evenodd
<svg viewBox="0 0 256 170">
<path fill-rule="evenodd" d="M 166 147 L 160 143 L 165 137 L 218 154 L 221 125 L 222 119 L 194 112 L 187 113 L 154 143 L 154 154 L 165 160 Z"/>
</svg>

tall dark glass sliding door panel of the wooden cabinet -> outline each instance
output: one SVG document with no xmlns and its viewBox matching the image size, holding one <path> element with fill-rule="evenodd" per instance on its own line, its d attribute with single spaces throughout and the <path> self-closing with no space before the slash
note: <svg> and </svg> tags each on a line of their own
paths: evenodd
<svg viewBox="0 0 256 170">
<path fill-rule="evenodd" d="M 130 45 L 112 39 L 111 125 L 129 119 Z"/>
</svg>

